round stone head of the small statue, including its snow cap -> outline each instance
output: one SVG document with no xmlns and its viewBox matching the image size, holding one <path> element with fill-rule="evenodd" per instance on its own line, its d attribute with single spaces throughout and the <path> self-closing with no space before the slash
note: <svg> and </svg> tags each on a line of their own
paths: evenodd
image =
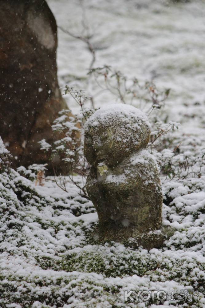
<svg viewBox="0 0 205 308">
<path fill-rule="evenodd" d="M 110 105 L 89 118 L 84 152 L 91 165 L 104 160 L 108 166 L 114 166 L 145 148 L 149 138 L 150 124 L 143 112 L 129 105 Z"/>
</svg>

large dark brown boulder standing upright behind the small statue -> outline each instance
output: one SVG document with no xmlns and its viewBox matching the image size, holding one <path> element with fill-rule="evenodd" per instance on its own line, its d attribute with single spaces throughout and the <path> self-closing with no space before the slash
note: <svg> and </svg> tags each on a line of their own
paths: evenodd
<svg viewBox="0 0 205 308">
<path fill-rule="evenodd" d="M 66 107 L 57 81 L 57 25 L 44 0 L 0 0 L 0 134 L 13 166 L 48 161 L 38 141 Z"/>
</svg>

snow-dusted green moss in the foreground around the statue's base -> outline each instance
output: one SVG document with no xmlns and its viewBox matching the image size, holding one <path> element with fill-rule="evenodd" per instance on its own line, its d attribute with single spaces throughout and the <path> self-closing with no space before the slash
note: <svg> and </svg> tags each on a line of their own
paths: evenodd
<svg viewBox="0 0 205 308">
<path fill-rule="evenodd" d="M 80 181 L 80 178 L 76 178 Z M 204 192 L 163 180 L 164 224 L 175 227 L 162 249 L 132 249 L 93 241 L 98 217 L 92 203 L 67 182 L 34 186 L 18 172 L 0 174 L 1 307 L 155 307 L 125 301 L 125 290 L 198 291 L 205 284 Z M 187 307 L 185 302 L 161 302 Z"/>
</svg>

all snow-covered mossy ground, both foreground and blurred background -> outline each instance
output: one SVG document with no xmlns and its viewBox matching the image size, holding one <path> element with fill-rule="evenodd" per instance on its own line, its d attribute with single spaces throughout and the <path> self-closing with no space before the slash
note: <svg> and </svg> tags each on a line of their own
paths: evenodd
<svg viewBox="0 0 205 308">
<path fill-rule="evenodd" d="M 0 174 L 0 307 L 155 308 L 160 304 L 152 299 L 125 302 L 125 290 L 168 294 L 194 290 L 199 301 L 167 300 L 163 306 L 205 307 L 205 2 L 48 3 L 58 25 L 73 34 L 82 33 L 85 21 L 94 34 L 95 67 L 111 65 L 128 77 L 153 79 L 157 87 L 171 88 L 164 112 L 182 125 L 169 136 L 170 148 L 154 154 L 163 165 L 180 144 L 179 156 L 173 159 L 183 163 L 189 158 L 193 172 L 180 180 L 162 176 L 164 223 L 176 231 L 162 249 L 149 252 L 114 242 L 93 243 L 96 211 L 69 181 L 66 193 L 50 181 L 34 187 L 17 172 Z M 91 62 L 86 44 L 59 30 L 58 45 L 60 86 L 69 83 L 96 91 L 94 82 L 86 79 Z M 76 112 L 74 102 L 68 95 L 65 98 Z M 103 92 L 96 96 L 95 107 L 114 100 Z"/>
</svg>

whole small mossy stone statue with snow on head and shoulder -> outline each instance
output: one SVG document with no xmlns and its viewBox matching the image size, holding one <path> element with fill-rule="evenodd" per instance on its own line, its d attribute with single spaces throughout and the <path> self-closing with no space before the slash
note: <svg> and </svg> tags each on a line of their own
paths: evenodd
<svg viewBox="0 0 205 308">
<path fill-rule="evenodd" d="M 105 240 L 146 249 L 163 244 L 163 196 L 158 165 L 146 150 L 149 138 L 147 116 L 129 105 L 103 107 L 86 123 L 86 189 Z"/>
</svg>

